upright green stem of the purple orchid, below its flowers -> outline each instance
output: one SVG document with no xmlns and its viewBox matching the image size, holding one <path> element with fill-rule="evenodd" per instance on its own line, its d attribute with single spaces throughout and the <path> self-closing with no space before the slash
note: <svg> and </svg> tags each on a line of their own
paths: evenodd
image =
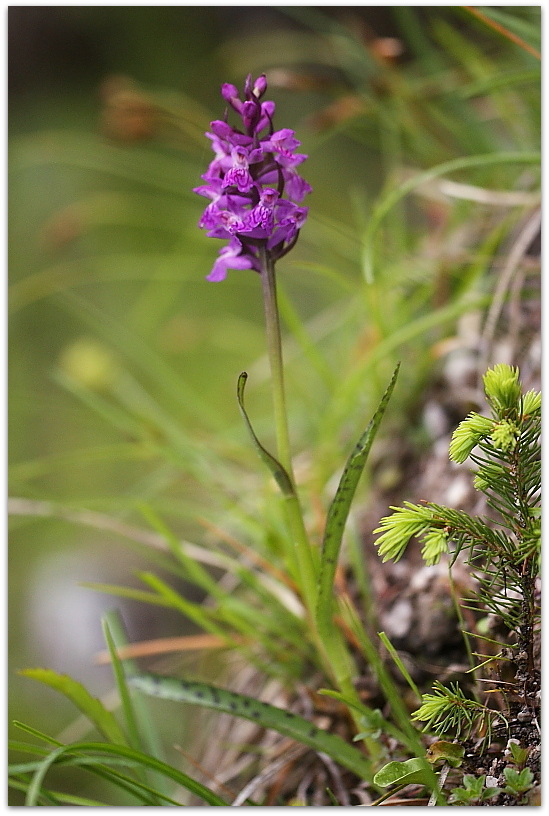
<svg viewBox="0 0 549 816">
<path fill-rule="evenodd" d="M 295 547 L 295 552 L 291 553 L 291 557 L 292 561 L 296 562 L 301 590 L 307 610 L 311 618 L 314 618 L 317 594 L 317 570 L 315 568 L 311 545 L 309 543 L 307 531 L 305 530 L 303 514 L 301 512 L 297 491 L 295 489 L 295 477 L 292 467 L 292 456 L 290 453 L 290 434 L 288 432 L 288 416 L 286 413 L 286 397 L 284 393 L 282 339 L 276 298 L 275 266 L 270 254 L 264 247 L 259 250 L 259 257 L 261 260 L 261 280 L 263 284 L 263 303 L 265 307 L 267 350 L 269 354 L 273 386 L 278 458 L 281 465 L 286 470 L 294 488 L 293 495 L 286 497 L 288 523 Z"/>
</svg>

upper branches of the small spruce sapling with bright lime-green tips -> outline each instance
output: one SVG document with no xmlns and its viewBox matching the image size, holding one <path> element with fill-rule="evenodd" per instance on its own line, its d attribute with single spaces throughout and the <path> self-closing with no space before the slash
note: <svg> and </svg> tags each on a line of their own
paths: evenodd
<svg viewBox="0 0 549 816">
<path fill-rule="evenodd" d="M 454 558 L 467 550 L 468 563 L 477 570 L 477 604 L 501 616 L 520 636 L 537 616 L 531 586 L 540 547 L 541 397 L 535 392 L 523 397 L 518 369 L 504 364 L 490 369 L 484 383 L 493 417 L 470 414 L 461 422 L 450 458 L 463 462 L 471 457 L 477 466 L 474 486 L 499 514 L 499 526 L 431 502 L 406 502 L 392 508 L 393 515 L 383 518 L 375 532 L 381 533 L 377 546 L 384 560 L 401 558 L 413 536 L 422 541 L 427 564 L 437 563 L 450 545 Z M 479 453 L 473 454 L 475 448 Z"/>
</svg>

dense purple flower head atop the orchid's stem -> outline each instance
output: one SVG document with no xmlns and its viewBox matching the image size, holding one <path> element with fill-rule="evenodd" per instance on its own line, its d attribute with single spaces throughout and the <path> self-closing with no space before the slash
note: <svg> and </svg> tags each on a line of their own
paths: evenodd
<svg viewBox="0 0 549 816">
<path fill-rule="evenodd" d="M 281 258 L 294 246 L 305 223 L 308 208 L 301 202 L 311 187 L 296 167 L 307 156 L 296 153 L 300 142 L 288 128 L 274 130 L 274 102 L 262 102 L 267 80 L 262 74 L 244 85 L 244 100 L 238 89 L 226 83 L 221 95 L 239 115 L 241 128 L 223 121 L 211 123 L 215 158 L 202 176 L 205 184 L 194 192 L 210 199 L 199 226 L 211 238 L 229 239 L 220 251 L 207 279 L 223 280 L 228 269 L 261 272 L 261 256 Z"/>
</svg>

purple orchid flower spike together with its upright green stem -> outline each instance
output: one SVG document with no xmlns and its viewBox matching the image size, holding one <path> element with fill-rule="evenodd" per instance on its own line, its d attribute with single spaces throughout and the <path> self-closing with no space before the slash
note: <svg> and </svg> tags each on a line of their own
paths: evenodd
<svg viewBox="0 0 549 816">
<path fill-rule="evenodd" d="M 277 463 L 277 478 L 284 476 L 287 519 L 295 542 L 292 558 L 302 581 L 305 603 L 312 613 L 316 603 L 316 566 L 293 473 L 275 274 L 276 261 L 295 245 L 307 219 L 308 208 L 302 206 L 302 201 L 311 187 L 296 169 L 307 156 L 295 152 L 300 142 L 293 130 L 274 129 L 275 104 L 262 101 L 266 90 L 265 74 L 255 82 L 248 75 L 243 99 L 234 85 L 225 83 L 221 87 L 228 107 L 224 119 L 210 123 L 206 137 L 211 141 L 214 158 L 202 176 L 205 184 L 195 187 L 194 192 L 209 199 L 199 227 L 207 231 L 209 238 L 228 241 L 206 279 L 222 281 L 229 269 L 253 269 L 261 278 L 278 460 L 266 452 L 265 455 L 271 463 Z M 229 123 L 229 108 L 240 117 L 240 127 Z M 242 386 L 238 386 L 242 387 L 238 391 L 242 411 L 246 377 L 241 375 Z"/>
</svg>

